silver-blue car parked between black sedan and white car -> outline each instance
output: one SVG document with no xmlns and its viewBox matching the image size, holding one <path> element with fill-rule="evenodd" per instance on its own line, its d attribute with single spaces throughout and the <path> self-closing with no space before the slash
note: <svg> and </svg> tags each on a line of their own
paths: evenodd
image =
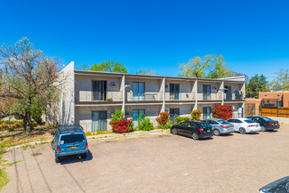
<svg viewBox="0 0 289 193">
<path fill-rule="evenodd" d="M 221 134 L 229 134 L 235 132 L 234 125 L 223 119 L 209 118 L 205 120 L 205 123 L 213 126 L 213 133 L 217 136 Z"/>
</svg>

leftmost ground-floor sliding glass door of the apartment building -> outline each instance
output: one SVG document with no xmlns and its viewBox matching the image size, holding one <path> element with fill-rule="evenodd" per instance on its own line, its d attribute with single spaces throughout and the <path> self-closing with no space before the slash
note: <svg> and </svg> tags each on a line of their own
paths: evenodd
<svg viewBox="0 0 289 193">
<path fill-rule="evenodd" d="M 92 132 L 107 131 L 107 111 L 92 111 Z"/>
</svg>

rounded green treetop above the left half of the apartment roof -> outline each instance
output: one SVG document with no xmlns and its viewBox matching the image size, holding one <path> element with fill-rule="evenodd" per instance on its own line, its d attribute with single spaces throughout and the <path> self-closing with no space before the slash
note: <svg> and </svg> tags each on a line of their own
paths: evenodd
<svg viewBox="0 0 289 193">
<path fill-rule="evenodd" d="M 127 73 L 127 69 L 124 64 L 120 62 L 114 62 L 113 60 L 108 60 L 106 62 L 101 62 L 100 64 L 94 64 L 89 70 L 100 71 L 100 72 L 117 72 L 117 73 Z"/>
</svg>

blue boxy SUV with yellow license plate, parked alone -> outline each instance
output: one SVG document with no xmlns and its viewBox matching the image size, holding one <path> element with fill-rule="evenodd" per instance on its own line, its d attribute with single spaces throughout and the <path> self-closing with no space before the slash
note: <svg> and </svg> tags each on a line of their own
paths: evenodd
<svg viewBox="0 0 289 193">
<path fill-rule="evenodd" d="M 62 157 L 70 155 L 86 158 L 88 143 L 81 126 L 60 126 L 52 135 L 52 149 L 55 151 L 56 163 L 60 163 Z"/>
</svg>

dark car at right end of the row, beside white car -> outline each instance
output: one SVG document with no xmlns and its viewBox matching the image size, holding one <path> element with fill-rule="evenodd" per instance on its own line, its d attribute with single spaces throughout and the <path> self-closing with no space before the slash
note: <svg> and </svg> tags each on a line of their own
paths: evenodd
<svg viewBox="0 0 289 193">
<path fill-rule="evenodd" d="M 279 122 L 270 119 L 269 117 L 253 116 L 247 117 L 254 122 L 261 125 L 261 132 L 266 132 L 269 130 L 274 130 L 280 128 Z"/>
</svg>

